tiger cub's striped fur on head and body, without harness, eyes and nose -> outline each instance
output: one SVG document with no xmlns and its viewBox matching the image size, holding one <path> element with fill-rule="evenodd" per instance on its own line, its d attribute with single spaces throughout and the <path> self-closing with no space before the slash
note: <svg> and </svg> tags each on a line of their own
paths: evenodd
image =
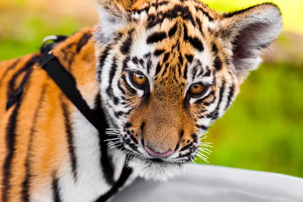
<svg viewBox="0 0 303 202">
<path fill-rule="evenodd" d="M 40 54 L 0 63 L 2 201 L 103 201 L 125 178 L 125 162 L 134 171 L 128 184 L 136 176 L 167 180 L 195 155 L 206 158 L 200 136 L 229 109 L 281 30 L 272 4 L 219 15 L 195 0 L 97 3 L 100 23 L 52 53 L 89 107 L 104 111 L 112 139 L 105 142 L 106 131 L 98 133 L 37 65 Z M 6 111 L 28 70 L 21 99 Z M 134 71 L 147 77 L 146 88 L 131 82 Z M 189 96 L 197 82 L 206 93 Z M 144 146 L 175 151 L 159 160 Z"/>
</svg>

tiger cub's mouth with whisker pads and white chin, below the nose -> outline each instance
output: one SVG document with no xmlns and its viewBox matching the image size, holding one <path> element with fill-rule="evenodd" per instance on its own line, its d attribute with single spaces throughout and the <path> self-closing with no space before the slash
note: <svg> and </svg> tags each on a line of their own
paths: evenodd
<svg viewBox="0 0 303 202">
<path fill-rule="evenodd" d="M 126 165 L 132 168 L 138 176 L 147 180 L 167 181 L 180 174 L 184 165 L 193 162 L 196 156 L 207 161 L 207 157 L 200 153 L 201 149 L 206 148 L 200 148 L 199 146 L 203 144 L 210 146 L 206 142 L 200 141 L 205 137 L 200 137 L 199 141 L 192 142 L 187 146 L 182 147 L 178 143 L 175 149 L 166 153 L 157 153 L 144 143 L 143 135 L 138 141 L 127 133 L 122 124 L 120 129 L 108 129 L 107 134 L 111 135 L 112 138 L 109 139 L 108 143 L 110 148 L 117 147 L 122 151 Z M 204 151 L 208 152 L 208 149 Z"/>
</svg>

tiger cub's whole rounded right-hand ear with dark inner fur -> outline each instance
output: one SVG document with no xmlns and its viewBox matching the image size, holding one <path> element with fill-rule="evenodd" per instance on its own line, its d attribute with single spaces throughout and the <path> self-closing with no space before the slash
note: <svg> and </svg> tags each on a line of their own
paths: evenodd
<svg viewBox="0 0 303 202">
<path fill-rule="evenodd" d="M 242 83 L 262 62 L 262 49 L 269 47 L 280 34 L 282 15 L 276 5 L 264 3 L 221 17 L 221 37 L 232 45 L 230 63 Z"/>
</svg>

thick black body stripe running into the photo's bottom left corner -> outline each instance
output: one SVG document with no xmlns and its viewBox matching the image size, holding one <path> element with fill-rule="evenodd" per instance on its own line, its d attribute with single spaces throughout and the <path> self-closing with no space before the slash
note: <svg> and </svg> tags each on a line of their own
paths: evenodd
<svg viewBox="0 0 303 202">
<path fill-rule="evenodd" d="M 16 141 L 16 128 L 17 128 L 17 117 L 21 103 L 18 102 L 14 108 L 6 129 L 6 147 L 7 156 L 4 160 L 3 165 L 3 179 L 2 179 L 2 201 L 9 201 L 8 192 L 11 189 L 10 178 L 12 176 L 12 160 L 15 154 L 15 141 Z"/>
</svg>

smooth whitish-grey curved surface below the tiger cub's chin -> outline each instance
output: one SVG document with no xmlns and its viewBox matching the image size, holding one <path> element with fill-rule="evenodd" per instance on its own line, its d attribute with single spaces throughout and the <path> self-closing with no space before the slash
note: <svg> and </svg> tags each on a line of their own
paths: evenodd
<svg viewBox="0 0 303 202">
<path fill-rule="evenodd" d="M 136 180 L 114 202 L 303 202 L 303 179 L 258 171 L 189 165 L 167 183 Z"/>
</svg>

